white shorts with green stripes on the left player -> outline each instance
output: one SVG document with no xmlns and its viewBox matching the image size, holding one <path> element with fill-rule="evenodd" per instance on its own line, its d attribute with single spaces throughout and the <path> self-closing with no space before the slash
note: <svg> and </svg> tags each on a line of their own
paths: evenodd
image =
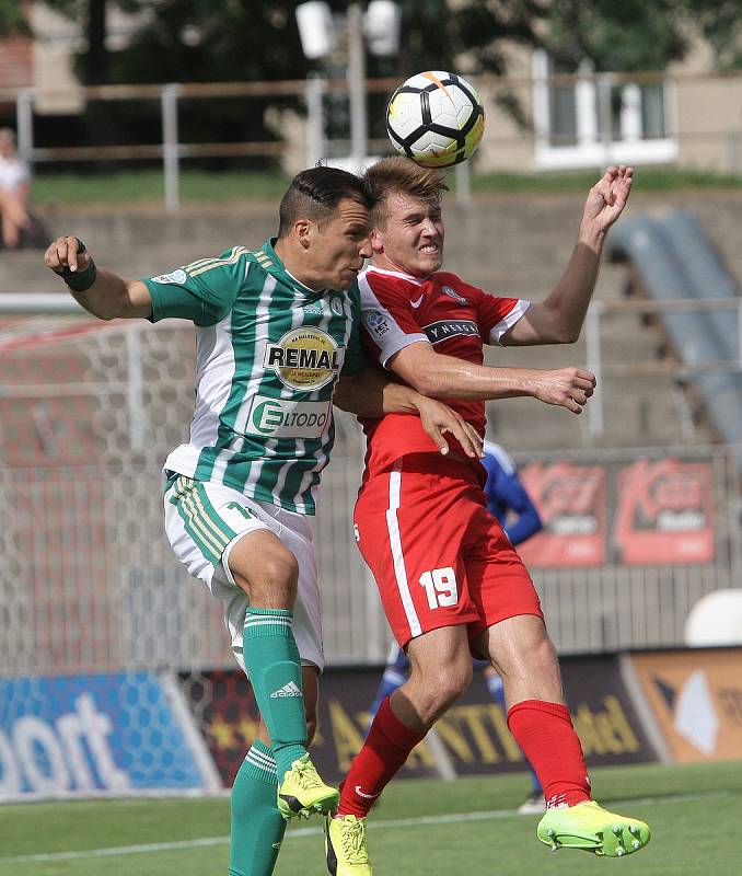
<svg viewBox="0 0 742 876">
<path fill-rule="evenodd" d="M 232 638 L 232 653 L 245 669 L 242 635 L 247 595 L 229 568 L 232 548 L 247 532 L 268 529 L 291 551 L 299 564 L 299 589 L 293 607 L 293 636 L 302 665 L 325 665 L 320 620 L 312 529 L 300 514 L 247 498 L 236 489 L 177 474 L 165 491 L 165 532 L 175 555 L 195 577 L 204 581 L 224 607 L 224 624 Z M 246 670 L 245 670 L 246 671 Z"/>
</svg>

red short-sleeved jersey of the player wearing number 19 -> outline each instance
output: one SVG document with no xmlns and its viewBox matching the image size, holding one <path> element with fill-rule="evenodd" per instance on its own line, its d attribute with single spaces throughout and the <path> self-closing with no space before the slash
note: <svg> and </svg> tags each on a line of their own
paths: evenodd
<svg viewBox="0 0 742 876">
<path fill-rule="evenodd" d="M 408 344 L 427 342 L 437 353 L 482 365 L 483 344 L 499 344 L 530 302 L 498 298 L 469 286 L 455 274 L 438 272 L 426 279 L 368 267 L 359 276 L 361 338 L 372 361 L 385 368 Z M 445 400 L 477 431 L 485 433 L 484 402 Z M 407 453 L 438 452 L 417 417 L 387 414 L 362 419 L 368 436 L 369 477 L 392 468 Z"/>
</svg>

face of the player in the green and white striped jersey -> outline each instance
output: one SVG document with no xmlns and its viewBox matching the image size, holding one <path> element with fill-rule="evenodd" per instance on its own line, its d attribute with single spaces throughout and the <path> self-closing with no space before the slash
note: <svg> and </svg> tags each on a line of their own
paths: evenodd
<svg viewBox="0 0 742 876">
<path fill-rule="evenodd" d="M 349 289 L 363 262 L 371 257 L 370 231 L 366 206 L 350 198 L 338 204 L 328 222 L 315 226 L 308 251 L 314 273 L 313 288 Z"/>
</svg>

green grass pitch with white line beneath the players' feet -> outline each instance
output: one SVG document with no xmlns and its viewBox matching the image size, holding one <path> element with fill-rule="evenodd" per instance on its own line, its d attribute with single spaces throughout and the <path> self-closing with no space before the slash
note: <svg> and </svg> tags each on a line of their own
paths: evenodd
<svg viewBox="0 0 742 876">
<path fill-rule="evenodd" d="M 537 817 L 513 811 L 523 774 L 447 783 L 404 781 L 390 786 L 371 819 L 376 876 L 459 873 L 589 876 L 618 867 L 627 876 L 738 876 L 742 763 L 630 766 L 592 771 L 606 806 L 647 820 L 650 845 L 622 862 L 580 852 L 552 854 L 534 835 Z M 476 814 L 484 814 L 477 816 Z M 441 818 L 460 816 L 460 820 Z M 426 821 L 420 819 L 427 818 Z M 399 825 L 401 819 L 411 823 Z M 95 800 L 0 807 L 0 876 L 202 876 L 227 872 L 227 799 Z M 324 876 L 318 825 L 287 834 L 276 876 Z M 196 844 L 213 839 L 211 844 Z M 179 848 L 137 850 L 147 843 Z M 190 843 L 190 844 L 185 844 Z M 127 846 L 128 848 L 127 850 Z M 119 849 L 93 856 L 92 850 Z M 18 860 L 79 852 L 70 858 Z M 85 855 L 85 852 L 89 852 Z M 9 860 L 16 858 L 16 860 Z"/>
</svg>

